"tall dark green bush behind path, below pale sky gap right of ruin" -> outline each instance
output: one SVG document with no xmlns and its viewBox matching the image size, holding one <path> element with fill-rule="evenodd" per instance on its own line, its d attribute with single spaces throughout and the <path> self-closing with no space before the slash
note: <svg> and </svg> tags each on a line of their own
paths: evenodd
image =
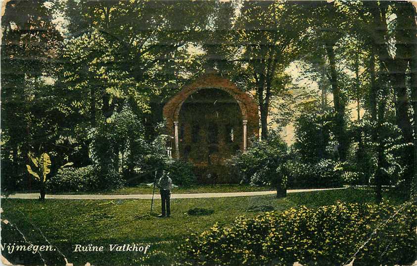
<svg viewBox="0 0 417 266">
<path fill-rule="evenodd" d="M 295 143 L 287 163 L 291 187 L 324 188 L 341 186 L 347 178 L 347 164 L 340 157 L 334 137 L 334 112 L 317 101 L 303 104 L 295 120 Z"/>
</svg>

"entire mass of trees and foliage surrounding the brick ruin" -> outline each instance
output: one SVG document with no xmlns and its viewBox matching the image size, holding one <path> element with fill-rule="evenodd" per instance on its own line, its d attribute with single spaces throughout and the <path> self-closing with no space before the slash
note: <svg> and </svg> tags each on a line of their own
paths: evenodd
<svg viewBox="0 0 417 266">
<path fill-rule="evenodd" d="M 414 13 L 411 3 L 378 1 L 10 1 L 1 17 L 2 183 L 17 188 L 26 169 L 46 180 L 25 169 L 21 154 L 30 150 L 48 151 L 51 174 L 68 160 L 126 179 L 165 168 L 167 136 L 153 140 L 139 120 L 152 116 L 145 123 L 153 128 L 159 104 L 209 66 L 254 94 L 264 136 L 268 121 L 280 127 L 301 113 L 290 166 L 306 184 L 330 186 L 340 175 L 410 186 L 414 72 L 404 62 L 414 52 Z M 68 24 L 53 22 L 56 14 Z M 314 110 L 292 108 L 299 71 L 308 73 L 299 84 Z M 356 129 L 347 125 L 352 102 L 374 120 L 353 142 L 345 134 Z M 268 142 L 233 160 L 247 183 L 283 187 L 277 154 L 285 152 Z M 343 164 L 330 161 L 338 158 Z M 193 179 L 182 174 L 184 184 Z"/>
</svg>

